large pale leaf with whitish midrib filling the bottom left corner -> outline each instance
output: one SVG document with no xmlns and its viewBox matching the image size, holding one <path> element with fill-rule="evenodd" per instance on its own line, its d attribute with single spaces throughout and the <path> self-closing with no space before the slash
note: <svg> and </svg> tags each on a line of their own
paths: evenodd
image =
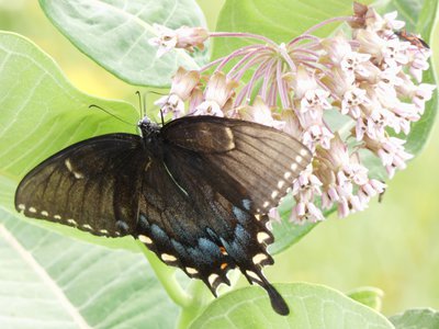
<svg viewBox="0 0 439 329">
<path fill-rule="evenodd" d="M 66 238 L 0 208 L 0 327 L 172 328 L 178 307 L 142 253 Z"/>
</svg>

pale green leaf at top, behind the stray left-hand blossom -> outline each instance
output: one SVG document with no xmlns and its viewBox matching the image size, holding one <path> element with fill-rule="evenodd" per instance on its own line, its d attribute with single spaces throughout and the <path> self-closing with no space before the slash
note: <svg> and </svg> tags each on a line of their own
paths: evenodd
<svg viewBox="0 0 439 329">
<path fill-rule="evenodd" d="M 157 58 L 148 39 L 153 23 L 170 29 L 205 26 L 193 0 L 85 1 L 40 0 L 53 24 L 82 53 L 122 80 L 138 86 L 166 87 L 179 66 L 196 69 L 206 52 L 190 56 L 175 49 Z"/>
</svg>

